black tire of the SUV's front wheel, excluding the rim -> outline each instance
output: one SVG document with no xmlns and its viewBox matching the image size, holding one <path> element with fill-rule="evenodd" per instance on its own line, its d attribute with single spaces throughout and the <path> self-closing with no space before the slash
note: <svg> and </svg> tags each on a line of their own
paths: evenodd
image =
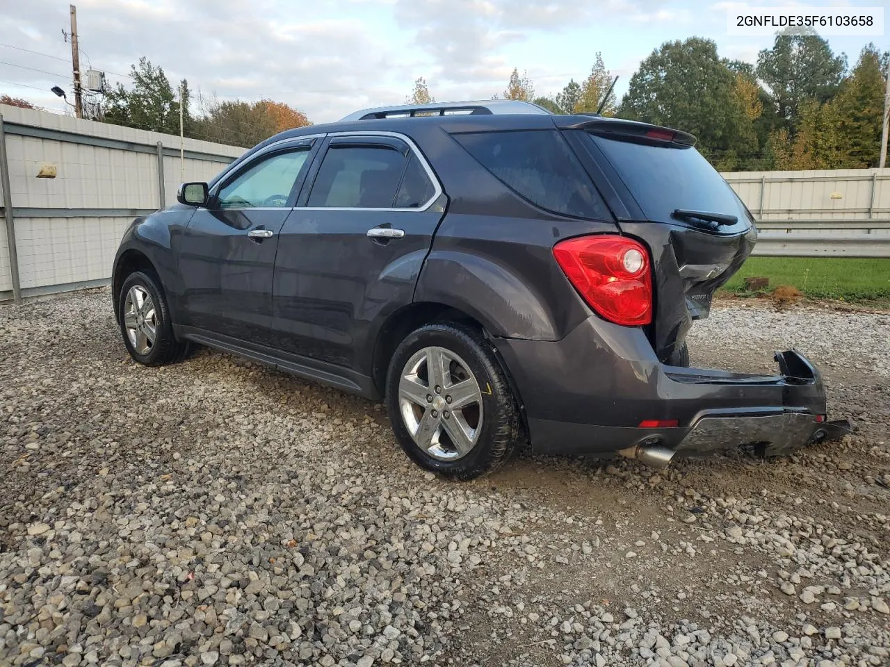
<svg viewBox="0 0 890 667">
<path fill-rule="evenodd" d="M 134 287 L 141 287 L 145 292 L 149 293 L 151 301 L 154 305 L 154 315 L 152 321 L 155 323 L 155 340 L 151 343 L 148 350 L 137 350 L 134 343 L 131 342 L 127 333 L 128 327 L 125 325 L 125 316 L 127 311 L 127 294 Z M 176 340 L 173 333 L 173 325 L 170 321 L 170 309 L 167 306 L 164 290 L 160 287 L 160 280 L 150 271 L 134 271 L 126 277 L 124 285 L 120 288 L 119 299 L 117 300 L 117 321 L 120 323 L 120 333 L 124 339 L 126 351 L 145 366 L 164 366 L 165 364 L 173 364 L 182 361 L 190 350 L 190 343 L 187 341 L 180 342 Z"/>
</svg>

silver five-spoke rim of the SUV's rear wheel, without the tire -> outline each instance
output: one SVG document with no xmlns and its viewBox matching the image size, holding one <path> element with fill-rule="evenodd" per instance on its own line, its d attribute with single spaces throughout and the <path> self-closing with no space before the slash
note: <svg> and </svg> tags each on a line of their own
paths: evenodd
<svg viewBox="0 0 890 667">
<path fill-rule="evenodd" d="M 479 383 L 451 350 L 423 348 L 409 358 L 399 379 L 399 409 L 411 438 L 433 458 L 463 458 L 479 441 Z"/>
</svg>

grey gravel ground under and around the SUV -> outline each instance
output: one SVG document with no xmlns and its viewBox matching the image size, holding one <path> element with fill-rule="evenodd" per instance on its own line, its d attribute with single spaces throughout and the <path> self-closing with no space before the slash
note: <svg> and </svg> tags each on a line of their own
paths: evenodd
<svg viewBox="0 0 890 667">
<path fill-rule="evenodd" d="M 382 406 L 109 293 L 0 308 L 0 664 L 890 663 L 890 315 L 719 302 L 693 363 L 795 345 L 856 435 L 772 462 L 520 456 L 457 484 Z"/>
</svg>

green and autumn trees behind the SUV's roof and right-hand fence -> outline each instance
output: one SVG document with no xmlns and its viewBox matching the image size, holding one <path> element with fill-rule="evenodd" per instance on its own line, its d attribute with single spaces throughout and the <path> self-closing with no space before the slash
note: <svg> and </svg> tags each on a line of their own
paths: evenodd
<svg viewBox="0 0 890 667">
<path fill-rule="evenodd" d="M 603 116 L 667 125 L 694 134 L 720 171 L 854 169 L 878 166 L 887 60 L 868 44 L 853 68 L 846 56 L 811 35 L 778 35 L 756 64 L 727 60 L 709 39 L 661 44 L 630 78 L 619 103 Z M 587 78 L 551 96 L 535 94 L 514 68 L 502 96 L 554 113 L 595 111 L 611 84 L 601 53 Z M 498 95 L 495 95 L 497 98 Z M 423 78 L 409 101 L 432 100 Z"/>
</svg>

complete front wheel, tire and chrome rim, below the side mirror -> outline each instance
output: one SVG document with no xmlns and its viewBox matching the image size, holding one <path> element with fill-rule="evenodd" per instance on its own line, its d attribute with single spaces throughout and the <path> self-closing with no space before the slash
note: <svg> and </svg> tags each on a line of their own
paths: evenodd
<svg viewBox="0 0 890 667">
<path fill-rule="evenodd" d="M 127 276 L 117 301 L 124 345 L 135 361 L 163 366 L 189 353 L 189 342 L 179 342 L 174 336 L 170 309 L 153 273 L 134 271 Z"/>
</svg>

